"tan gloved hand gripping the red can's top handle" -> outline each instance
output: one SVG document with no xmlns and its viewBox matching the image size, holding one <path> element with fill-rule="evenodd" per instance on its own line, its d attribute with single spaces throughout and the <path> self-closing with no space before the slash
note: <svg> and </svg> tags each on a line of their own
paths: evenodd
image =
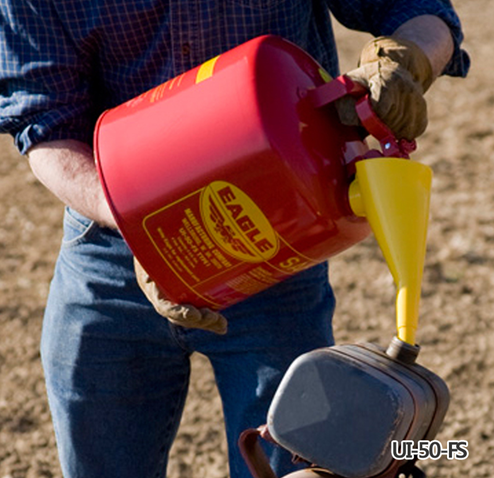
<svg viewBox="0 0 494 478">
<path fill-rule="evenodd" d="M 367 43 L 360 54 L 359 67 L 346 73 L 370 92 L 377 116 L 397 139 L 413 140 L 427 127 L 424 93 L 433 81 L 432 66 L 415 43 L 395 37 L 378 37 Z M 336 102 L 340 121 L 359 125 L 355 99 Z"/>
</svg>

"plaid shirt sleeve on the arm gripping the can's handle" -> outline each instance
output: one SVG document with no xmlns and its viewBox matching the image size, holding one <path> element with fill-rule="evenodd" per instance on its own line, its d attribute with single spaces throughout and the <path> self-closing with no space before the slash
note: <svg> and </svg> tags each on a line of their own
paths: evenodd
<svg viewBox="0 0 494 478">
<path fill-rule="evenodd" d="M 420 15 L 441 18 L 450 28 L 454 42 L 453 56 L 443 74 L 467 75 L 470 58 L 460 47 L 463 32 L 450 0 L 326 0 L 326 3 L 342 25 L 374 36 L 391 35 L 403 23 Z"/>
</svg>

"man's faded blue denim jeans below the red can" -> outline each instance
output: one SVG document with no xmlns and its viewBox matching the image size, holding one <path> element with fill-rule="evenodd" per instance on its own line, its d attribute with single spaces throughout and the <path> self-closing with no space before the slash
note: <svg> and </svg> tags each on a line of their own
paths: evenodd
<svg viewBox="0 0 494 478">
<path fill-rule="evenodd" d="M 137 286 L 121 235 L 67 210 L 41 344 L 64 476 L 164 477 L 197 351 L 214 369 L 231 476 L 250 477 L 238 437 L 266 422 L 297 356 L 332 344 L 333 309 L 320 265 L 225 310 L 226 336 L 173 326 Z M 274 447 L 278 476 L 290 458 Z"/>
</svg>

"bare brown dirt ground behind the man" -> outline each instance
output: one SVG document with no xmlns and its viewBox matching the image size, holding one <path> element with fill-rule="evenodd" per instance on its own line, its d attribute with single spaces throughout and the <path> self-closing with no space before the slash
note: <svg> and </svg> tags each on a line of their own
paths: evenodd
<svg viewBox="0 0 494 478">
<path fill-rule="evenodd" d="M 420 362 L 442 376 L 451 405 L 438 435 L 468 440 L 464 461 L 423 462 L 431 478 L 494 477 L 494 2 L 455 5 L 472 58 L 467 80 L 428 93 L 430 126 L 414 159 L 434 171 L 418 342 Z M 343 69 L 365 35 L 338 29 Z M 0 478 L 61 478 L 39 357 L 44 302 L 61 237 L 62 207 L 0 137 Z M 394 286 L 373 238 L 331 261 L 338 343 L 386 345 Z M 171 478 L 226 478 L 217 390 L 194 358 Z M 109 477 L 104 477 L 109 478 Z"/>
</svg>

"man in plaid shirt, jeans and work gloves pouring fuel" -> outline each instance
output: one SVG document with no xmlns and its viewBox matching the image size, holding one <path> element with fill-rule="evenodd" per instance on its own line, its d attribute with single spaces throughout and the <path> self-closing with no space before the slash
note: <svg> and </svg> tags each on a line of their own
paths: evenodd
<svg viewBox="0 0 494 478">
<path fill-rule="evenodd" d="M 67 205 L 42 337 L 66 478 L 165 476 L 194 351 L 215 371 L 231 476 L 248 477 L 240 432 L 264 422 L 295 357 L 333 343 L 326 264 L 222 315 L 170 304 L 141 277 L 144 295 L 91 148 L 104 109 L 261 34 L 293 41 L 336 76 L 328 8 L 349 28 L 385 36 L 365 48 L 350 76 L 370 88 L 398 136 L 422 133 L 425 90 L 442 73 L 468 69 L 448 0 L 0 4 L 0 131 L 14 136 L 34 174 Z M 339 110 L 342 121 L 356 121 L 352 105 Z M 278 475 L 292 469 L 279 449 L 271 460 Z"/>
</svg>

